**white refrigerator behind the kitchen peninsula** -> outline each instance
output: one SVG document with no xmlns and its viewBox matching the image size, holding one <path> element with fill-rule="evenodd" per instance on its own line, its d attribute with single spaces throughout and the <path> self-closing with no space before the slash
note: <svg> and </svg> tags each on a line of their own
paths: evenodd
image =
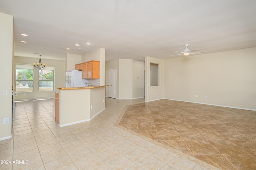
<svg viewBox="0 0 256 170">
<path fill-rule="evenodd" d="M 66 71 L 66 87 L 85 87 L 88 79 L 82 79 L 82 71 Z"/>
</svg>

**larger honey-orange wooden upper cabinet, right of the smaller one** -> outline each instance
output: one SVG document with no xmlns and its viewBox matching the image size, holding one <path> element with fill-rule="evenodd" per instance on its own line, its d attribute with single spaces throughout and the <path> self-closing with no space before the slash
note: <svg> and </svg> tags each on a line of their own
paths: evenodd
<svg viewBox="0 0 256 170">
<path fill-rule="evenodd" d="M 100 61 L 88 61 L 82 63 L 83 79 L 99 79 L 100 78 Z"/>
</svg>

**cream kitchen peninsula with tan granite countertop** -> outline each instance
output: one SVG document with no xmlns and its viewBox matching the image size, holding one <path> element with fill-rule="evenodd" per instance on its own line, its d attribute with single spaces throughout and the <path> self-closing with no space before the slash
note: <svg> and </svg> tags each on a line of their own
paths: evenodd
<svg viewBox="0 0 256 170">
<path fill-rule="evenodd" d="M 58 87 L 55 121 L 59 127 L 92 120 L 105 109 L 105 87 Z"/>
</svg>

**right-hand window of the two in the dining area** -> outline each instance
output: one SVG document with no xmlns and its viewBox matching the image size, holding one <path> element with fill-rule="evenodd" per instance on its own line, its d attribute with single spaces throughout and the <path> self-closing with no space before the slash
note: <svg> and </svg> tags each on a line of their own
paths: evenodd
<svg viewBox="0 0 256 170">
<path fill-rule="evenodd" d="M 39 91 L 53 91 L 54 71 L 39 70 Z"/>
</svg>

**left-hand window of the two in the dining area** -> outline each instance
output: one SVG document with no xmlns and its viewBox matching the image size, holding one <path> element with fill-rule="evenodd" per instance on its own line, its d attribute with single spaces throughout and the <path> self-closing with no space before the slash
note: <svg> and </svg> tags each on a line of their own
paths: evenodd
<svg viewBox="0 0 256 170">
<path fill-rule="evenodd" d="M 34 68 L 30 65 L 16 65 L 16 92 L 33 91 Z"/>
</svg>

